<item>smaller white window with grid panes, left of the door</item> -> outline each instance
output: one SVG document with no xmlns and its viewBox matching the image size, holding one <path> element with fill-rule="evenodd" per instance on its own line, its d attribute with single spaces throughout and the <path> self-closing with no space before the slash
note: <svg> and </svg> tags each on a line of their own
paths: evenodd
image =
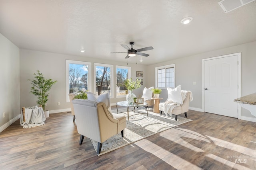
<svg viewBox="0 0 256 170">
<path fill-rule="evenodd" d="M 175 64 L 155 68 L 156 87 L 175 87 Z"/>
</svg>

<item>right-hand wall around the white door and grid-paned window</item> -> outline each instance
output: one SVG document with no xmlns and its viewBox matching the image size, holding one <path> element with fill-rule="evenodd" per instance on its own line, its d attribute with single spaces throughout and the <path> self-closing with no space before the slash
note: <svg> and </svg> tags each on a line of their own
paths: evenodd
<svg viewBox="0 0 256 170">
<path fill-rule="evenodd" d="M 256 41 L 181 59 L 174 59 L 164 63 L 152 64 L 147 69 L 147 84 L 148 86 L 155 86 L 155 80 L 150 76 L 155 74 L 155 67 L 175 64 L 176 86 L 181 85 L 182 90 L 191 90 L 194 100 L 190 102 L 190 107 L 202 109 L 202 59 L 238 52 L 241 52 L 241 96 L 255 93 Z M 196 85 L 193 85 L 193 82 L 196 82 Z M 162 101 L 166 100 L 166 90 L 160 94 L 160 97 L 164 98 Z M 248 110 L 243 108 L 241 109 L 241 115 L 255 118 Z"/>
</svg>

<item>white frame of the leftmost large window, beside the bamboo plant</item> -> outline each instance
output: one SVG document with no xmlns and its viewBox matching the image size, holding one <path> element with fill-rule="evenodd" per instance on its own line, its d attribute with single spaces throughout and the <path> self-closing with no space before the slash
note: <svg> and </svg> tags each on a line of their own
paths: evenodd
<svg viewBox="0 0 256 170">
<path fill-rule="evenodd" d="M 66 60 L 66 103 L 69 103 L 69 64 L 88 65 L 88 90 L 92 89 L 92 63 L 86 61 Z"/>
</svg>

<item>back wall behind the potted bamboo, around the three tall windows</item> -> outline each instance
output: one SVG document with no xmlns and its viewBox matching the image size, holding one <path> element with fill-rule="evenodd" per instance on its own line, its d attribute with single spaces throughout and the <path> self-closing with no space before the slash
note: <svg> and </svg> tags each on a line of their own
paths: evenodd
<svg viewBox="0 0 256 170">
<path fill-rule="evenodd" d="M 144 72 L 144 79 L 147 76 L 146 66 L 120 63 L 117 61 L 109 61 L 96 59 L 93 57 L 78 57 L 71 55 L 62 55 L 56 53 L 47 53 L 42 51 L 32 51 L 27 49 L 20 49 L 20 104 L 22 107 L 35 106 L 37 98 L 30 93 L 30 82 L 28 79 L 33 79 L 33 73 L 39 70 L 46 78 L 52 78 L 57 80 L 51 88 L 49 100 L 47 102 L 46 109 L 61 110 L 69 109 L 70 103 L 66 103 L 66 60 L 86 61 L 92 63 L 92 73 L 94 72 L 94 63 L 113 64 L 114 75 L 115 66 L 131 66 L 132 67 L 132 79 L 136 79 L 136 71 Z M 90 92 L 94 92 L 94 74 L 92 74 L 92 89 Z M 143 78 L 140 78 L 143 79 Z M 115 80 L 115 76 L 114 76 Z M 114 82 L 115 84 L 115 82 Z M 139 89 L 134 90 L 134 94 L 140 97 L 143 93 L 143 88 L 146 86 L 146 82 Z M 115 90 L 115 87 L 114 87 Z M 118 101 L 125 100 L 125 98 L 112 98 L 110 102 L 115 104 Z M 60 106 L 57 105 L 60 102 Z"/>
</svg>

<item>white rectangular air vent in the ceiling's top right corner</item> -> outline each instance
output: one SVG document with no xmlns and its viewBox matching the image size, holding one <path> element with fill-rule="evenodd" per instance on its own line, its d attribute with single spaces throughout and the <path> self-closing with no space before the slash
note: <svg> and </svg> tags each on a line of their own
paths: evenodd
<svg viewBox="0 0 256 170">
<path fill-rule="evenodd" d="M 219 3 L 219 5 L 221 6 L 221 8 L 226 12 L 230 12 L 236 8 L 239 8 L 241 6 L 244 6 L 252 1 L 255 0 L 221 0 Z"/>
</svg>

